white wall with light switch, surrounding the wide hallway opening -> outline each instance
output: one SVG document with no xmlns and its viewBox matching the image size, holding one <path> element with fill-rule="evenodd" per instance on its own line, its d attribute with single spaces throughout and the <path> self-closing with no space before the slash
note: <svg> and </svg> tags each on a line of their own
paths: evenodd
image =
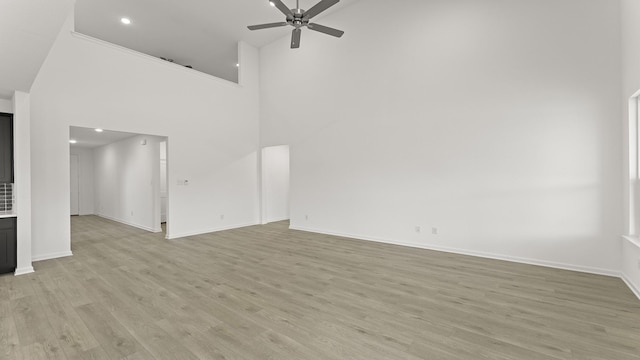
<svg viewBox="0 0 640 360">
<path fill-rule="evenodd" d="M 169 137 L 169 237 L 258 223 L 258 51 L 239 46 L 238 85 L 72 35 L 72 19 L 31 90 L 34 258 L 71 254 L 69 126 Z"/>
</svg>

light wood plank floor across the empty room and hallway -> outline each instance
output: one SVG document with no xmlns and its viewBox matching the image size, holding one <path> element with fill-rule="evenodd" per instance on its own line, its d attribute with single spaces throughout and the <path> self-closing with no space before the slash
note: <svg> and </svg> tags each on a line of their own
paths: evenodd
<svg viewBox="0 0 640 360">
<path fill-rule="evenodd" d="M 287 229 L 72 218 L 0 276 L 0 359 L 640 359 L 621 280 Z"/>
</svg>

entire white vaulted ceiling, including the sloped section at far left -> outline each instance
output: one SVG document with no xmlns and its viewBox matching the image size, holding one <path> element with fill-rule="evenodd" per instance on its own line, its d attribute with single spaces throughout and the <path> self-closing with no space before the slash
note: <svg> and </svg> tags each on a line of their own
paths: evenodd
<svg viewBox="0 0 640 360">
<path fill-rule="evenodd" d="M 318 1 L 299 0 L 302 9 Z M 357 1 L 341 0 L 317 19 Z M 294 0 L 283 2 L 295 7 Z M 290 36 L 291 31 L 289 27 L 247 29 L 247 25 L 284 20 L 268 0 L 2 0 L 0 98 L 10 98 L 14 90 L 29 92 L 74 4 L 77 32 L 230 81 L 238 77 L 239 41 L 261 47 Z M 122 24 L 123 17 L 131 19 L 131 24 Z"/>
</svg>

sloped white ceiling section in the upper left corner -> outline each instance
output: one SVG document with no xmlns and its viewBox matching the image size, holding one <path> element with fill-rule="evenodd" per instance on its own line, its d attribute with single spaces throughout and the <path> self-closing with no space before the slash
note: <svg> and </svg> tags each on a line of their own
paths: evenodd
<svg viewBox="0 0 640 360">
<path fill-rule="evenodd" d="M 31 85 L 74 0 L 0 0 L 0 98 Z"/>
</svg>

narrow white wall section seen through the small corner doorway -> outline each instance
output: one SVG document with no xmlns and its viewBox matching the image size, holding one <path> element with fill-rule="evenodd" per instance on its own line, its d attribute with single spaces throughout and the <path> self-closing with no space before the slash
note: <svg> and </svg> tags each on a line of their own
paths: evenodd
<svg viewBox="0 0 640 360">
<path fill-rule="evenodd" d="M 262 223 L 289 219 L 289 146 L 262 149 Z"/>
</svg>

